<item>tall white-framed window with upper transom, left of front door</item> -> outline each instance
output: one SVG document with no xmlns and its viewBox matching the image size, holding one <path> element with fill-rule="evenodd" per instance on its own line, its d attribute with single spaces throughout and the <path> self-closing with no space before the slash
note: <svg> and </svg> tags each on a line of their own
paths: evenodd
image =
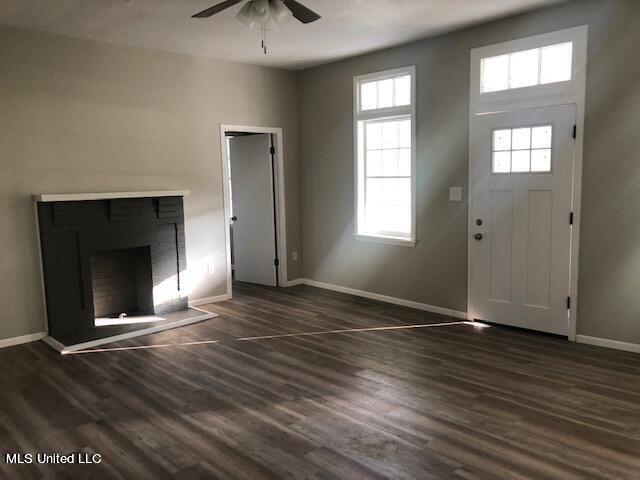
<svg viewBox="0 0 640 480">
<path fill-rule="evenodd" d="M 357 77 L 356 234 L 413 244 L 415 68 Z"/>
</svg>

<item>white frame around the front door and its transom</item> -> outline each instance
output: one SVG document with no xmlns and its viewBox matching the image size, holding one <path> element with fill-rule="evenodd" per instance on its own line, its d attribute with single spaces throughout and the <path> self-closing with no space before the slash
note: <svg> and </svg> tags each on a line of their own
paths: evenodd
<svg viewBox="0 0 640 480">
<path fill-rule="evenodd" d="M 545 33 L 533 37 L 521 38 L 510 42 L 488 45 L 486 47 L 471 50 L 471 81 L 470 81 L 470 108 L 469 108 L 469 171 L 473 162 L 474 122 L 476 115 L 523 110 L 536 107 L 550 107 L 556 105 L 573 104 L 576 106 L 576 141 L 573 165 L 573 193 L 572 206 L 573 228 L 571 234 L 570 257 L 570 284 L 568 294 L 571 297 L 571 306 L 568 311 L 568 338 L 576 340 L 576 319 L 578 307 L 578 259 L 580 246 L 580 207 L 582 199 L 582 157 L 584 138 L 584 110 L 586 91 L 587 68 L 587 37 L 586 25 Z M 564 42 L 573 42 L 573 58 L 571 68 L 571 80 L 567 82 L 538 85 L 513 90 L 504 90 L 494 93 L 480 93 L 481 60 L 494 55 L 503 55 L 511 52 L 554 45 Z M 471 181 L 468 186 L 468 198 L 471 199 Z M 472 244 L 471 234 L 474 228 L 474 219 L 471 218 L 471 205 L 468 208 L 468 272 L 467 272 L 467 307 L 471 305 L 471 267 Z M 568 220 L 567 220 L 568 221 Z M 467 308 L 469 310 L 469 308 Z"/>
</svg>

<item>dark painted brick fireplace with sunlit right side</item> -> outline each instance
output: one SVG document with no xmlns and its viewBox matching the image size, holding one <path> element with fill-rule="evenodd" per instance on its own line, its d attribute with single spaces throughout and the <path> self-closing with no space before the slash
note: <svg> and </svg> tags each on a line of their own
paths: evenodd
<svg viewBox="0 0 640 480">
<path fill-rule="evenodd" d="M 51 337 L 99 338 L 96 318 L 188 308 L 182 196 L 44 195 L 37 213 Z"/>
</svg>

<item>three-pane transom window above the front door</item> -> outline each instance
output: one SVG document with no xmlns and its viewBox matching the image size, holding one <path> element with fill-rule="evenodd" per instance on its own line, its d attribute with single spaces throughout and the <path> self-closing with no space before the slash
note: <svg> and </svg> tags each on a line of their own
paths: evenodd
<svg viewBox="0 0 640 480">
<path fill-rule="evenodd" d="M 521 50 L 481 60 L 482 93 L 571 80 L 573 42 Z"/>
</svg>

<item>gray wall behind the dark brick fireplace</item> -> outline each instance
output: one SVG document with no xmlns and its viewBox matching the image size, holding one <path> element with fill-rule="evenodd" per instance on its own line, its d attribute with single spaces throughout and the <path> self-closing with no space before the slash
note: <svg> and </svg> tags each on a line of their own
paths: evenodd
<svg viewBox="0 0 640 480">
<path fill-rule="evenodd" d="M 0 339 L 45 327 L 36 193 L 191 190 L 190 297 L 224 294 L 220 123 L 284 128 L 299 249 L 295 96 L 292 72 L 0 27 Z"/>
</svg>

